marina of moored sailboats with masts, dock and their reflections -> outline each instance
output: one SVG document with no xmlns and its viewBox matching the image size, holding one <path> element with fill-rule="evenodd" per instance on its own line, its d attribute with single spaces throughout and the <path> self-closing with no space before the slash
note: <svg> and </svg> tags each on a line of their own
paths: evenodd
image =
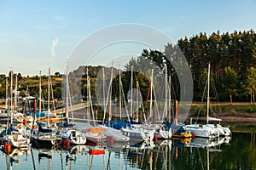
<svg viewBox="0 0 256 170">
<path fill-rule="evenodd" d="M 44 169 L 44 167 L 59 169 L 61 167 L 61 169 L 70 170 L 84 167 L 87 169 L 180 169 L 189 167 L 212 169 L 216 166 L 214 163 L 219 161 L 213 158 L 222 157 L 221 154 L 230 148 L 234 137 L 236 141 L 236 138 L 244 135 L 244 133 L 232 133 L 230 122 L 224 122 L 224 125 L 228 125 L 227 127 L 222 127 L 219 123 L 208 123 L 222 121 L 217 118 L 210 120 L 209 93 L 207 93 L 207 116 L 205 117 L 207 123 L 180 122 L 178 102 L 171 99 L 171 86 L 168 85 L 167 78 L 164 80 L 165 92 L 161 96 L 164 102 L 154 99 L 157 97 L 154 94 L 154 70 L 151 70 L 148 96 L 145 100 L 146 109 L 143 108 L 143 102 L 139 101 L 138 94 L 135 95 L 136 100 L 127 99 L 126 101 L 120 72 L 119 93 L 116 94 L 119 96 L 119 100 L 116 101 L 119 104 L 118 107 L 113 109 L 115 101 L 109 93 L 113 86 L 110 82 L 107 83 L 108 86 L 105 85 L 108 93 L 103 92 L 106 99 L 103 99 L 100 104 L 92 102 L 90 77 L 86 77 L 88 85 L 86 101 L 73 105 L 70 81 L 67 76 L 68 74 L 63 77 L 63 101 L 61 101 L 62 108 L 59 110 L 55 108 L 53 89 L 50 88 L 50 70 L 47 110 L 42 111 L 43 99 L 32 98 L 28 103 L 33 104 L 33 110 L 28 112 L 26 108 L 20 109 L 20 112 L 26 114 L 18 114 L 19 97 L 16 95 L 19 94 L 18 88 L 15 88 L 15 95 L 10 95 L 9 105 L 6 106 L 6 110 L 2 111 L 5 119 L 1 122 L 1 149 L 6 160 L 6 169 L 27 168 L 28 165 L 31 165 L 33 169 Z M 13 83 L 13 72 L 11 72 L 11 83 Z M 209 83 L 207 83 L 208 92 Z M 138 83 L 137 88 L 139 88 Z M 40 89 L 41 79 L 39 78 L 39 94 L 42 93 Z M 10 89 L 10 91 L 13 90 Z M 37 105 L 37 102 L 40 105 Z M 133 103 L 137 111 L 132 109 Z M 104 111 L 100 110 L 99 105 Z M 141 109 L 138 109 L 138 105 L 141 105 Z M 101 112 L 101 116 L 98 116 L 98 111 Z M 19 119 L 17 119 L 18 116 Z M 251 133 L 251 138 L 254 144 L 255 133 Z M 23 156 L 26 159 L 22 158 Z M 30 163 L 23 164 L 25 160 Z M 220 163 L 222 162 L 218 162 Z M 233 164 L 225 166 L 229 167 Z M 218 169 L 222 168 L 218 167 Z"/>
</svg>

